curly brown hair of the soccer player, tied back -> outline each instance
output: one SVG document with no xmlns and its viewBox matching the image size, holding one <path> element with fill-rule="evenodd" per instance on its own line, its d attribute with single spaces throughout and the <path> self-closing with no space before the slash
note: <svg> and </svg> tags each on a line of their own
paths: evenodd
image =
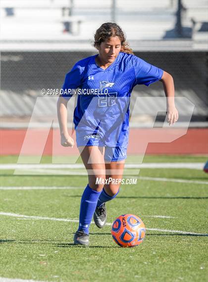
<svg viewBox="0 0 208 282">
<path fill-rule="evenodd" d="M 132 49 L 129 47 L 129 44 L 126 42 L 126 36 L 124 35 L 122 29 L 119 25 L 113 22 L 105 22 L 99 27 L 99 29 L 96 30 L 96 33 L 94 35 L 95 41 L 93 42 L 93 46 L 95 48 L 98 48 L 98 46 L 100 46 L 101 43 L 105 41 L 105 39 L 111 36 L 117 36 L 120 39 L 120 52 L 134 54 Z"/>
</svg>

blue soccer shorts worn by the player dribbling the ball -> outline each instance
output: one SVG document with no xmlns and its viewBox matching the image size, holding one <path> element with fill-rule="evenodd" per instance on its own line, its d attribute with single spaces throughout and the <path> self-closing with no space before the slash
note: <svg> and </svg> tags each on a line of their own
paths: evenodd
<svg viewBox="0 0 208 282">
<path fill-rule="evenodd" d="M 76 131 L 76 143 L 77 147 L 80 146 L 99 146 L 105 147 L 104 149 L 104 160 L 107 162 L 122 161 L 127 158 L 127 145 L 121 145 L 116 147 L 106 146 L 99 135 L 86 134 L 83 132 Z"/>
</svg>

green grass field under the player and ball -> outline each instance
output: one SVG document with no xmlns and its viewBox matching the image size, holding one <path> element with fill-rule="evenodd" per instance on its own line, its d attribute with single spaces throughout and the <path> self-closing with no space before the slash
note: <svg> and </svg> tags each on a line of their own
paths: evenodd
<svg viewBox="0 0 208 282">
<path fill-rule="evenodd" d="M 46 157 L 42 163 L 50 160 Z M 206 161 L 200 156 L 147 156 L 144 160 Z M 1 158 L 1 164 L 16 162 L 16 156 Z M 0 277 L 49 282 L 207 282 L 208 174 L 197 169 L 141 169 L 139 176 L 184 182 L 138 179 L 136 185 L 122 185 L 116 199 L 107 203 L 107 222 L 121 214 L 140 216 L 148 228 L 144 242 L 120 248 L 112 240 L 110 226 L 99 229 L 92 224 L 86 248 L 74 246 L 73 235 L 87 176 L 13 175 L 13 170 L 1 170 L 3 187 L 77 188 L 1 189 Z"/>
</svg>

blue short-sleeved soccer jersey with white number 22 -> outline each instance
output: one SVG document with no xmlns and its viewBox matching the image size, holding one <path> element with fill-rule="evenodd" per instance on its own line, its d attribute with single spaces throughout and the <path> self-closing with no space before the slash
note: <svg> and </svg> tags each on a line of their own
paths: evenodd
<svg viewBox="0 0 208 282">
<path fill-rule="evenodd" d="M 96 64 L 96 56 L 73 66 L 66 74 L 61 96 L 70 99 L 73 94 L 78 95 L 73 119 L 76 132 L 96 133 L 109 147 L 125 145 L 132 89 L 137 84 L 149 86 L 161 79 L 163 70 L 123 52 L 103 69 Z"/>
</svg>

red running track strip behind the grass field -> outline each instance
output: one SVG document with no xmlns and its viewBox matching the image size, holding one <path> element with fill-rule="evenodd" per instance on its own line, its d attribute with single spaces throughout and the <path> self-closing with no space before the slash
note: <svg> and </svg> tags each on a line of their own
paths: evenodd
<svg viewBox="0 0 208 282">
<path fill-rule="evenodd" d="M 26 134 L 27 133 L 27 134 Z M 181 137 L 180 137 L 181 136 Z M 75 140 L 75 134 L 72 136 Z M 53 142 L 52 142 L 53 141 Z M 59 129 L 1 129 L 1 155 L 77 155 L 76 146 L 60 145 Z M 208 154 L 208 129 L 131 128 L 128 154 Z"/>
</svg>

